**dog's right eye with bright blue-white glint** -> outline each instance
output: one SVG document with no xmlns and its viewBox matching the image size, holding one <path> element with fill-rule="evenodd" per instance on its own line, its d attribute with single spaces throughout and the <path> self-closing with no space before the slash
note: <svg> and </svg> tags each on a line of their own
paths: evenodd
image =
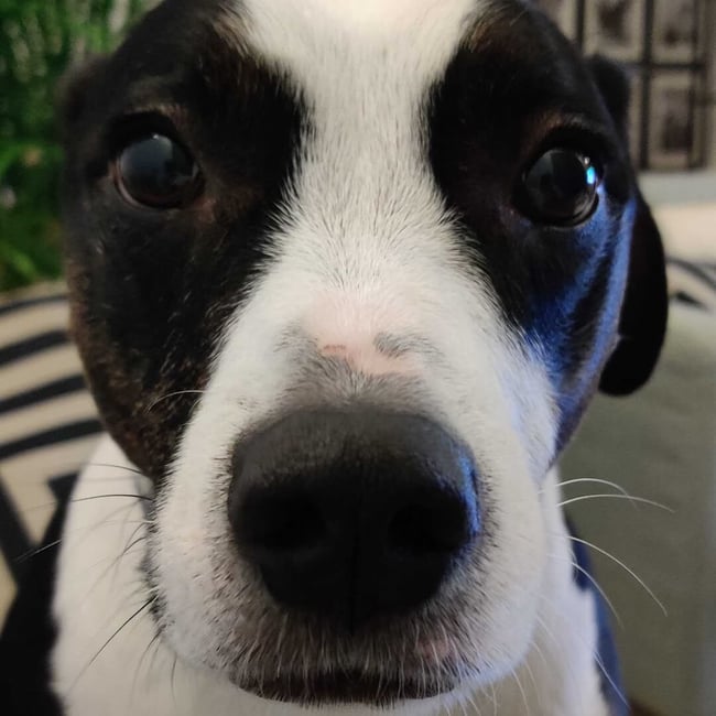
<svg viewBox="0 0 716 716">
<path fill-rule="evenodd" d="M 599 172 L 592 160 L 571 149 L 551 149 L 525 172 L 523 194 L 529 215 L 569 226 L 584 221 L 597 204 Z"/>
</svg>

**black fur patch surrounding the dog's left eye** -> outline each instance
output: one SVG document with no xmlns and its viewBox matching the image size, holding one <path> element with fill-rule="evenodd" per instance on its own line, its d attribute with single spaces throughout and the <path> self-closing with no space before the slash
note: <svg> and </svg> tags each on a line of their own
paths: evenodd
<svg viewBox="0 0 716 716">
<path fill-rule="evenodd" d="M 229 44 L 218 2 L 150 13 L 70 85 L 64 184 L 73 326 L 108 431 L 161 480 L 227 318 L 264 258 L 304 112 Z M 137 132 L 181 141 L 205 177 L 184 209 L 130 205 L 111 164 Z"/>
</svg>

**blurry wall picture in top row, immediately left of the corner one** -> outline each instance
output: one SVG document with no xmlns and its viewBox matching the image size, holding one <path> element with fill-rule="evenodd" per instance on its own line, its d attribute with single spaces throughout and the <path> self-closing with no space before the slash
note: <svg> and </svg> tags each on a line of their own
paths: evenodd
<svg viewBox="0 0 716 716">
<path fill-rule="evenodd" d="M 637 62 L 643 48 L 644 0 L 588 0 L 585 50 Z"/>
</svg>

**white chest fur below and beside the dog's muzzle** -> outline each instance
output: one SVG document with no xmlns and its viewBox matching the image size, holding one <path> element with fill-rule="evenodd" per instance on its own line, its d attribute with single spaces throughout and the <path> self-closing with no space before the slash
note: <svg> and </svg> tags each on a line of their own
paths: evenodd
<svg viewBox="0 0 716 716">
<path fill-rule="evenodd" d="M 176 660 L 164 642 L 152 642 L 155 628 L 147 612 L 133 619 L 102 650 L 147 598 L 138 592 L 144 543 L 120 556 L 142 535 L 141 528 L 135 532 L 143 519 L 141 503 L 101 497 L 135 492 L 133 473 L 127 468 L 131 469 L 127 458 L 106 437 L 73 493 L 67 517 L 54 601 L 59 634 L 53 671 L 55 691 L 68 716 L 375 713 L 364 707 L 299 709 L 257 699 L 217 674 Z M 433 699 L 408 704 L 392 710 L 391 716 L 607 716 L 594 670 L 594 604 L 590 595 L 579 592 L 572 582 L 571 554 L 557 502 L 556 474 L 552 473 L 544 489 L 550 558 L 539 596 L 540 627 L 513 675 L 465 693 L 462 701 L 448 698 L 447 703 L 456 702 L 452 708 Z"/>
</svg>

